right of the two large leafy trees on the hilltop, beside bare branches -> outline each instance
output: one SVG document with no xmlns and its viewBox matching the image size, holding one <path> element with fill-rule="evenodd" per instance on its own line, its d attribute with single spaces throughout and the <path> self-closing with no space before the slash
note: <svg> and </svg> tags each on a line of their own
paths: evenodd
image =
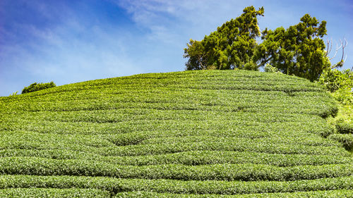
<svg viewBox="0 0 353 198">
<path fill-rule="evenodd" d="M 262 35 L 263 42 L 256 51 L 256 59 L 259 66 L 270 63 L 282 73 L 318 80 L 323 70 L 330 68 L 325 43 L 321 39 L 326 35 L 326 22 L 318 23 L 309 14 L 300 20 L 287 30 L 283 27 L 275 31 L 266 28 Z"/>
</svg>

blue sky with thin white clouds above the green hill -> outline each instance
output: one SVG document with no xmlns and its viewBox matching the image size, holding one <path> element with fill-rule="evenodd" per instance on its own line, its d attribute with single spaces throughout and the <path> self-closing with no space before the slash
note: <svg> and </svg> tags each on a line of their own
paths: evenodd
<svg viewBox="0 0 353 198">
<path fill-rule="evenodd" d="M 326 20 L 324 40 L 332 40 L 334 52 L 347 39 L 342 69 L 352 68 L 353 0 L 1 0 L 0 96 L 33 82 L 59 86 L 185 70 L 186 43 L 203 39 L 246 6 L 265 8 L 261 30 L 295 25 L 306 13 Z"/>
</svg>

